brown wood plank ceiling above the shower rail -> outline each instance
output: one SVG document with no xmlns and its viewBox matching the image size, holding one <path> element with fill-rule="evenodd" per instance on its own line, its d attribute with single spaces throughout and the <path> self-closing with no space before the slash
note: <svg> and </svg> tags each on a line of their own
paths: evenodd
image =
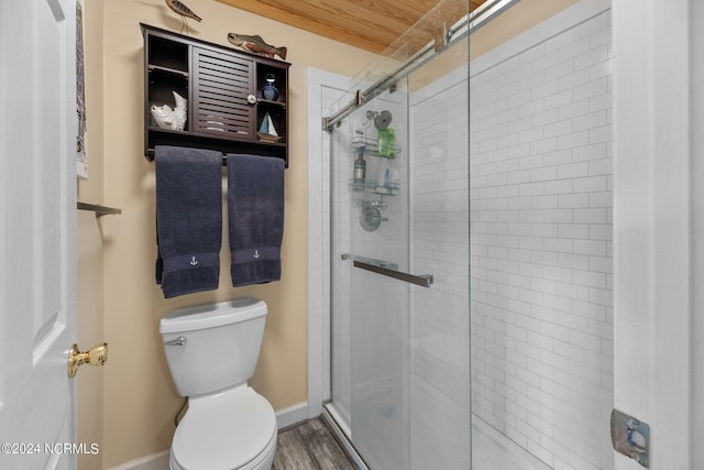
<svg viewBox="0 0 704 470">
<path fill-rule="evenodd" d="M 383 52 L 439 0 L 218 0 L 311 33 Z M 474 10 L 486 0 L 470 0 Z M 463 1 L 459 2 L 464 4 Z M 243 34 L 256 34 L 245 32 Z"/>
</svg>

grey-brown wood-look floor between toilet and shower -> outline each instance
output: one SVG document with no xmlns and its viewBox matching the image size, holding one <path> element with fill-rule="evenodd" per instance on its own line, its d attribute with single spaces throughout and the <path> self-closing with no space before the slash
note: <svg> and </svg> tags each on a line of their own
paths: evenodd
<svg viewBox="0 0 704 470">
<path fill-rule="evenodd" d="M 272 470 L 358 470 L 320 418 L 278 435 Z"/>
</svg>

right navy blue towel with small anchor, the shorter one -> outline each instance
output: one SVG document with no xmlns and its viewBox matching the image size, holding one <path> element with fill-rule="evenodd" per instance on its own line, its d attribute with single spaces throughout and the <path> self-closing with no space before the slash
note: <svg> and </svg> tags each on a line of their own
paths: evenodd
<svg viewBox="0 0 704 470">
<path fill-rule="evenodd" d="M 284 161 L 228 154 L 228 215 L 232 285 L 282 277 Z"/>
</svg>

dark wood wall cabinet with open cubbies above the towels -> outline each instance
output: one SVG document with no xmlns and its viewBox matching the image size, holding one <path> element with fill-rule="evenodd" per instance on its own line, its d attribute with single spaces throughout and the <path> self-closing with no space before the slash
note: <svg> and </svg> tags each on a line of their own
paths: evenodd
<svg viewBox="0 0 704 470">
<path fill-rule="evenodd" d="M 144 155 L 155 145 L 177 145 L 283 159 L 288 166 L 288 68 L 290 64 L 141 23 L 144 36 Z M 275 77 L 276 100 L 262 96 Z M 173 92 L 188 100 L 183 131 L 162 129 L 151 107 L 175 107 Z M 277 142 L 257 131 L 268 116 Z"/>
</svg>

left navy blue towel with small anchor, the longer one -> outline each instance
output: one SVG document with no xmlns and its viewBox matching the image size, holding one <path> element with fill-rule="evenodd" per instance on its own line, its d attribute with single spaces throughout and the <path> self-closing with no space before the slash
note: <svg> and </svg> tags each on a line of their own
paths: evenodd
<svg viewBox="0 0 704 470">
<path fill-rule="evenodd" d="M 157 145 L 156 283 L 164 297 L 218 288 L 222 154 Z"/>
</svg>

